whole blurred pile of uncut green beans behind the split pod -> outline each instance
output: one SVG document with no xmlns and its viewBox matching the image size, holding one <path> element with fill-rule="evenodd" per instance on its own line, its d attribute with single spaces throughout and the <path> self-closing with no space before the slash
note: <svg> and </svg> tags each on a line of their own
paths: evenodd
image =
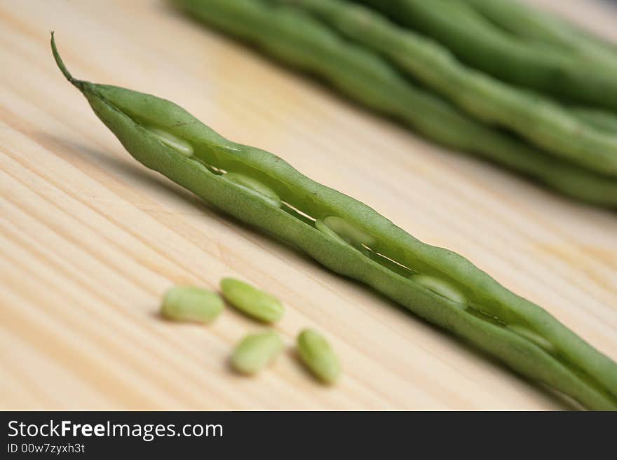
<svg viewBox="0 0 617 460">
<path fill-rule="evenodd" d="M 617 207 L 617 48 L 512 0 L 174 0 L 428 139 Z"/>
</svg>

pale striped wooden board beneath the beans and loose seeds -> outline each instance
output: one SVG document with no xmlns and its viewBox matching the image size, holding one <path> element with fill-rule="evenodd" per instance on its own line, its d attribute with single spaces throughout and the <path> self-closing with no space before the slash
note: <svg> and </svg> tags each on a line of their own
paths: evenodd
<svg viewBox="0 0 617 460">
<path fill-rule="evenodd" d="M 231 1 L 231 0 L 230 0 Z M 548 8 L 617 39 L 617 12 Z M 617 359 L 617 214 L 429 144 L 170 10 L 163 1 L 0 0 L 0 407 L 571 407 L 367 288 L 219 214 L 130 158 L 55 68 L 149 92 L 265 148 L 431 244 L 453 249 Z M 157 316 L 175 283 L 278 295 L 289 351 L 256 378 L 227 358 L 259 325 Z M 297 363 L 301 328 L 344 365 Z"/>
</svg>

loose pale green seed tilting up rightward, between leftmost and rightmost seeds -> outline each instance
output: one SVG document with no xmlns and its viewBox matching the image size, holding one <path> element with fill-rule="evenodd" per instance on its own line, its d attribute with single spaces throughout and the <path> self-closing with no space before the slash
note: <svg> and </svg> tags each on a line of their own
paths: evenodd
<svg viewBox="0 0 617 460">
<path fill-rule="evenodd" d="M 255 374 L 271 363 L 281 351 L 283 340 L 275 331 L 249 334 L 233 351 L 231 365 L 241 374 Z"/>
</svg>

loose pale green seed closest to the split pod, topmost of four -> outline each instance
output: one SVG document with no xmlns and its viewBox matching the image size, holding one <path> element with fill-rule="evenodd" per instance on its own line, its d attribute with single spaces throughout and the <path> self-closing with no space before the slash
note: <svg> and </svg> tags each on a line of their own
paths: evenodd
<svg viewBox="0 0 617 460">
<path fill-rule="evenodd" d="M 225 278 L 221 281 L 223 297 L 234 307 L 264 323 L 274 323 L 283 316 L 280 301 L 244 281 Z"/>
</svg>

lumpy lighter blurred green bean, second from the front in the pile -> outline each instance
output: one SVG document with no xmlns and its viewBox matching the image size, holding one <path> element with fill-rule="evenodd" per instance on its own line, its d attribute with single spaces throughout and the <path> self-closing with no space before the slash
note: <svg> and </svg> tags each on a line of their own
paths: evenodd
<svg viewBox="0 0 617 460">
<path fill-rule="evenodd" d="M 316 15 L 484 122 L 508 127 L 545 151 L 598 174 L 617 175 L 617 134 L 596 130 L 550 99 L 464 66 L 439 43 L 346 0 L 269 1 Z"/>
</svg>

